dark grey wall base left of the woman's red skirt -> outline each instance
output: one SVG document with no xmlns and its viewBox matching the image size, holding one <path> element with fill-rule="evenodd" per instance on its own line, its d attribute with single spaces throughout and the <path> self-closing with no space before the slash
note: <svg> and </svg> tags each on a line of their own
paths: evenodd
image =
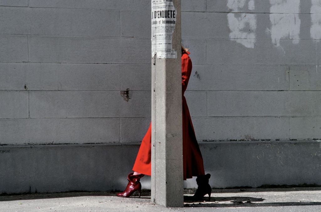
<svg viewBox="0 0 321 212">
<path fill-rule="evenodd" d="M 26 145 L 0 151 L 6 170 L 0 173 L 0 193 L 110 191 L 124 189 L 138 146 Z"/>
</svg>

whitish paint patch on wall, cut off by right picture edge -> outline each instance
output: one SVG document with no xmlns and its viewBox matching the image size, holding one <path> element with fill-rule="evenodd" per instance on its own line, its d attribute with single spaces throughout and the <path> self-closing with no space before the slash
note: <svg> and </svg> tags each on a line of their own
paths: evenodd
<svg viewBox="0 0 321 212">
<path fill-rule="evenodd" d="M 321 0 L 312 0 L 310 34 L 312 39 L 321 39 Z"/>
</svg>

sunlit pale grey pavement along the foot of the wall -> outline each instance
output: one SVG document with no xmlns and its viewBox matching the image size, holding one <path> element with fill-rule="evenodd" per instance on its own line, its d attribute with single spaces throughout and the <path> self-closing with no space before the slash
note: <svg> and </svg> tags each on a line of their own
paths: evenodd
<svg viewBox="0 0 321 212">
<path fill-rule="evenodd" d="M 185 199 L 195 190 L 186 190 Z M 277 189 L 213 189 L 211 200 L 185 200 L 184 208 L 163 208 L 142 198 L 119 198 L 116 192 L 68 192 L 0 196 L 1 212 L 95 211 L 321 211 L 321 187 Z"/>
</svg>

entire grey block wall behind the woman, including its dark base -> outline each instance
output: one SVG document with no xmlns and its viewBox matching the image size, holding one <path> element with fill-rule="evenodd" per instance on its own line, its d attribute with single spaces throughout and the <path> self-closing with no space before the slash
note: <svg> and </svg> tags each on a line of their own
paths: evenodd
<svg viewBox="0 0 321 212">
<path fill-rule="evenodd" d="M 212 154 L 216 154 L 216 145 L 224 146 L 224 142 L 232 148 L 237 141 L 238 148 L 233 151 L 242 152 L 247 151 L 245 146 L 253 145 L 246 140 L 255 140 L 262 151 L 264 140 L 291 143 L 321 139 L 320 3 L 182 0 L 183 43 L 190 48 L 193 62 L 185 96 L 196 137 L 204 149 L 205 165 L 212 172 L 213 187 L 319 183 L 312 177 L 302 181 L 274 177 L 280 181 L 250 182 L 253 179 L 246 173 L 242 179 L 249 181 L 220 183 L 220 179 L 231 179 L 233 170 L 224 166 L 230 156 Z M 17 157 L 20 148 L 32 147 L 46 155 L 48 149 L 43 145 L 48 144 L 62 144 L 52 147 L 52 158 L 77 160 L 78 155 L 67 157 L 69 150 L 60 149 L 75 144 L 80 152 L 86 151 L 83 145 L 88 143 L 108 144 L 104 146 L 110 150 L 106 154 L 114 153 L 119 158 L 127 155 L 129 146 L 140 142 L 150 122 L 149 14 L 149 0 L 0 0 L 0 147 L 10 145 L 9 150 L 1 149 L 0 161 Z M 127 89 L 128 101 L 121 95 Z M 38 148 L 37 144 L 42 145 Z M 280 156 L 278 145 L 276 142 L 273 146 L 273 154 Z M 293 144 L 293 148 L 296 146 Z M 248 149 L 252 151 L 251 158 L 257 158 L 258 150 Z M 321 163 L 321 153 L 313 152 L 310 146 L 306 149 L 314 163 Z M 16 164 L 19 168 L 19 160 L 28 161 L 32 150 L 28 151 L 12 160 L 10 167 Z M 93 152 L 103 155 L 98 150 Z M 273 158 L 278 160 L 273 154 L 266 156 L 267 163 Z M 289 152 L 282 154 L 291 157 Z M 240 165 L 248 161 L 238 156 Z M 93 165 L 100 159 L 90 160 Z M 213 167 L 211 160 L 215 160 Z M 30 159 L 33 168 L 38 163 L 38 159 Z M 123 164 L 116 175 L 125 175 L 131 166 Z M 70 167 L 62 168 L 61 174 L 68 177 L 64 173 Z M 215 174 L 217 167 L 231 175 Z M 318 167 L 315 172 L 320 171 Z M 103 169 L 108 173 L 109 168 Z M 117 169 L 119 164 L 111 170 Z M 281 166 L 274 176 L 280 172 Z M 29 185 L 10 191 L 12 186 L 7 184 L 14 173 L 10 170 L 0 175 L 6 178 L 0 182 L 9 188 L 0 193 L 29 191 Z M 29 174 L 31 178 L 35 176 Z M 33 182 L 33 187 L 37 183 Z M 67 184 L 60 185 L 60 191 L 71 190 Z M 77 190 L 77 183 L 74 185 Z M 1 184 L 0 187 L 4 188 Z M 98 187 L 92 182 L 82 188 Z M 102 190 L 115 188 L 121 189 L 122 184 L 108 187 L 107 183 Z"/>
</svg>

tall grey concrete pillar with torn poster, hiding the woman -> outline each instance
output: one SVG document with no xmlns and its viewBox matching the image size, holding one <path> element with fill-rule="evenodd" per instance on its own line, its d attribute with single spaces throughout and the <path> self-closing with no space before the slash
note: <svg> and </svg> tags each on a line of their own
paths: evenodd
<svg viewBox="0 0 321 212">
<path fill-rule="evenodd" d="M 164 9 L 161 4 L 168 5 Z M 165 13 L 170 10 L 166 20 L 171 24 L 162 24 L 165 19 L 161 10 Z M 151 195 L 153 203 L 165 207 L 184 206 L 180 19 L 180 0 L 166 3 L 152 0 Z M 168 39 L 170 28 L 173 34 Z M 162 40 L 164 35 L 167 37 Z"/>
</svg>

